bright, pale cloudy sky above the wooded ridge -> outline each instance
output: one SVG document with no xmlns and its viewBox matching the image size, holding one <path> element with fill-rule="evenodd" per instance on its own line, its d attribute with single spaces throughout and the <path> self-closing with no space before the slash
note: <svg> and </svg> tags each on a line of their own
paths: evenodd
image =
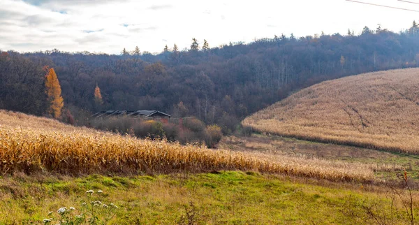
<svg viewBox="0 0 419 225">
<path fill-rule="evenodd" d="M 398 0 L 358 0 L 419 10 Z M 210 47 L 285 34 L 359 34 L 377 24 L 408 29 L 419 12 L 346 0 L 0 0 L 0 50 L 34 52 L 161 52 L 189 48 L 191 39 Z"/>
</svg>

